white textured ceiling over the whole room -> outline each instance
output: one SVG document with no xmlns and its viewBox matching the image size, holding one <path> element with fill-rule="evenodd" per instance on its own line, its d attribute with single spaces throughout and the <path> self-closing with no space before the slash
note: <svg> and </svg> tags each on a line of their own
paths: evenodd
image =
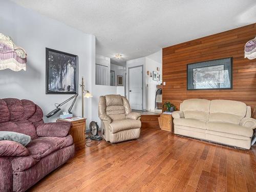
<svg viewBox="0 0 256 192">
<path fill-rule="evenodd" d="M 256 23 L 255 0 L 12 0 L 96 36 L 96 53 L 113 63 Z"/>
</svg>

